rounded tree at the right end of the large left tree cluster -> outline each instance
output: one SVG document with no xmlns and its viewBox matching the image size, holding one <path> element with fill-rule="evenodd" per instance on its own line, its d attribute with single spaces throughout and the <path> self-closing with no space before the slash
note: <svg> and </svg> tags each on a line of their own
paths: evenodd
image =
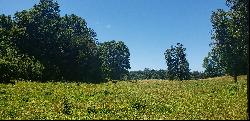
<svg viewBox="0 0 250 121">
<path fill-rule="evenodd" d="M 124 42 L 112 40 L 100 43 L 98 48 L 106 78 L 120 80 L 128 75 L 130 53 Z"/>
</svg>

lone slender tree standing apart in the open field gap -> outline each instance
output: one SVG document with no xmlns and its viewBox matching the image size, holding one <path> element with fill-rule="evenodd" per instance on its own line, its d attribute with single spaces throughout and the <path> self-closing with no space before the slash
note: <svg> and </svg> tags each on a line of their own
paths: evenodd
<svg viewBox="0 0 250 121">
<path fill-rule="evenodd" d="M 186 80 L 190 78 L 189 63 L 186 60 L 185 50 L 186 48 L 183 48 L 182 44 L 177 43 L 177 46 L 171 46 L 164 53 L 168 66 L 167 75 L 170 80 Z"/>
</svg>

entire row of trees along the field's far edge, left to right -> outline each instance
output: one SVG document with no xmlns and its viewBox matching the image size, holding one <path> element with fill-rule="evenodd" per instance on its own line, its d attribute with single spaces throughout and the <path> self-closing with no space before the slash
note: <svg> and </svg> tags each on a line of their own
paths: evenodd
<svg viewBox="0 0 250 121">
<path fill-rule="evenodd" d="M 211 51 L 203 60 L 204 72 L 190 72 L 186 48 L 177 43 L 166 49 L 166 70 L 130 69 L 129 48 L 123 41 L 98 42 L 85 19 L 60 15 L 53 0 L 40 0 L 14 17 L 0 15 L 0 82 L 203 79 L 248 73 L 248 0 L 226 0 L 229 11 L 211 15 Z"/>
</svg>

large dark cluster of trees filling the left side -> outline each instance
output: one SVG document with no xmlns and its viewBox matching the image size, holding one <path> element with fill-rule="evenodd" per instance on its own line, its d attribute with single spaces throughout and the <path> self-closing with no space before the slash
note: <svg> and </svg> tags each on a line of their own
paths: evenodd
<svg viewBox="0 0 250 121">
<path fill-rule="evenodd" d="M 122 41 L 99 43 L 86 21 L 60 15 L 57 2 L 0 15 L 0 80 L 100 82 L 120 79 L 130 68 Z M 116 73 L 116 74 L 115 74 Z"/>
</svg>

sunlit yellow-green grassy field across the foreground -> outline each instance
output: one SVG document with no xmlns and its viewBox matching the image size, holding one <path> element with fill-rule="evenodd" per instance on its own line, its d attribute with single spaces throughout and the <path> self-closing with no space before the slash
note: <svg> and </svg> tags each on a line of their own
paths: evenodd
<svg viewBox="0 0 250 121">
<path fill-rule="evenodd" d="M 248 119 L 247 77 L 0 84 L 0 119 Z"/>
</svg>

